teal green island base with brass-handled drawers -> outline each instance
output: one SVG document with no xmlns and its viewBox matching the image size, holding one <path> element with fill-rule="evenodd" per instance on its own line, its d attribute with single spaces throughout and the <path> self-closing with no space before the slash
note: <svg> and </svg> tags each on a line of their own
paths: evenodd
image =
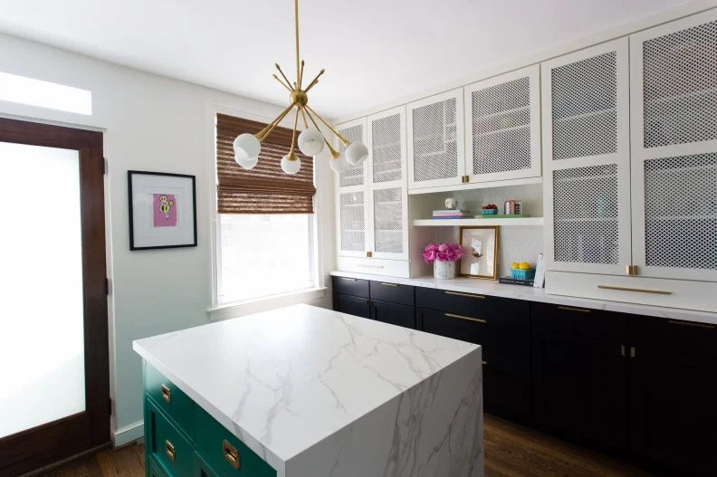
<svg viewBox="0 0 717 477">
<path fill-rule="evenodd" d="M 276 477 L 276 471 L 143 362 L 145 475 Z"/>
</svg>

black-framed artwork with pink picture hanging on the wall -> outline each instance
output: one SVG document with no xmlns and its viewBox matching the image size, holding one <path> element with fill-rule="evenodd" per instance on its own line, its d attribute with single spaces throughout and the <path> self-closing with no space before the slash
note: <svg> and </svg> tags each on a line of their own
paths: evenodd
<svg viewBox="0 0 717 477">
<path fill-rule="evenodd" d="M 129 250 L 196 247 L 196 176 L 127 171 Z"/>
</svg>

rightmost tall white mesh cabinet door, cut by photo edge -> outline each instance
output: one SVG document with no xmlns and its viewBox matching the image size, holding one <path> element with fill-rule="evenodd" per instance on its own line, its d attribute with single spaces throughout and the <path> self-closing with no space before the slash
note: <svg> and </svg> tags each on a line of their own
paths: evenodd
<svg viewBox="0 0 717 477">
<path fill-rule="evenodd" d="M 717 10 L 630 48 L 637 274 L 717 281 Z"/>
</svg>

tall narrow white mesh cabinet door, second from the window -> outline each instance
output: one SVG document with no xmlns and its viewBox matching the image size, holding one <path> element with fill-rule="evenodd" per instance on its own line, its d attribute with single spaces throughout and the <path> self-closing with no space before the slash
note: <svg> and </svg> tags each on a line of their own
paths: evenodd
<svg viewBox="0 0 717 477">
<path fill-rule="evenodd" d="M 369 250 L 375 258 L 408 260 L 406 107 L 368 117 Z"/>
</svg>

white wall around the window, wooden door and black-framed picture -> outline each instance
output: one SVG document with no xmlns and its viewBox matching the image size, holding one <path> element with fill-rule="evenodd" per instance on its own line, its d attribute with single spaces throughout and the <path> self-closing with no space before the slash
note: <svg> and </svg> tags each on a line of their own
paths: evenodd
<svg viewBox="0 0 717 477">
<path fill-rule="evenodd" d="M 271 81 L 272 64 L 267 63 Z M 133 339 L 208 322 L 212 303 L 211 120 L 213 105 L 271 120 L 282 108 L 220 91 L 101 62 L 0 34 L 0 71 L 58 82 L 92 92 L 91 117 L 0 101 L 0 115 L 82 125 L 104 131 L 110 371 L 113 430 L 142 419 L 141 367 Z M 210 132 L 207 132 L 210 131 Z M 323 276 L 334 265 L 333 182 L 317 160 L 320 253 Z M 127 170 L 196 176 L 198 246 L 129 252 Z M 328 281 L 327 281 L 328 282 Z M 330 294 L 320 304 L 329 306 Z M 187 352 L 191 352 L 190 349 Z"/>
</svg>

